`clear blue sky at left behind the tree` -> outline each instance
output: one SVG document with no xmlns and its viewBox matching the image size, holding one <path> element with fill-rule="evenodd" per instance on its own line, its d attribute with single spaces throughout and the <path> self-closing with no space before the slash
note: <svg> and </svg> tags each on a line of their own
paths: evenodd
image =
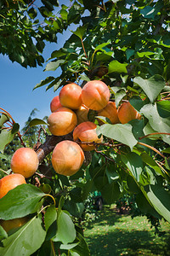
<svg viewBox="0 0 170 256">
<path fill-rule="evenodd" d="M 62 3 L 68 3 L 62 0 Z M 73 29 L 74 30 L 74 29 Z M 75 29 L 76 30 L 76 29 Z M 59 44 L 46 44 L 43 56 L 47 60 L 52 51 L 63 46 L 65 38 L 71 32 L 66 32 L 58 36 Z M 59 92 L 54 92 L 53 88 L 46 91 L 45 86 L 33 90 L 34 86 L 42 79 L 52 75 L 57 77 L 59 71 L 43 72 L 47 63 L 43 67 L 21 67 L 17 62 L 9 61 L 8 56 L 0 55 L 0 107 L 8 111 L 15 122 L 23 128 L 33 108 L 37 108 L 36 118 L 42 119 L 50 114 L 50 102 Z"/>
</svg>

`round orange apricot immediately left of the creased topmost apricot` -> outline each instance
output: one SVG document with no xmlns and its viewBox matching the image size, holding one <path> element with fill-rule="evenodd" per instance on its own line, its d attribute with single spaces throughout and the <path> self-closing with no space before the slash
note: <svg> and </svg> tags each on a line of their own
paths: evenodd
<svg viewBox="0 0 170 256">
<path fill-rule="evenodd" d="M 77 109 L 82 105 L 82 88 L 75 84 L 66 84 L 59 92 L 59 102 L 66 108 Z"/>
</svg>

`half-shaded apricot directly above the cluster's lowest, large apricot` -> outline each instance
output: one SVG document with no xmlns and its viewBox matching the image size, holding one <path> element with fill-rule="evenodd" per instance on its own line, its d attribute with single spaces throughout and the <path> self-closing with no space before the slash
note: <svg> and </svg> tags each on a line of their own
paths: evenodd
<svg viewBox="0 0 170 256">
<path fill-rule="evenodd" d="M 92 122 L 83 122 L 80 125 L 77 125 L 75 130 L 73 131 L 73 139 L 74 141 L 80 140 L 80 146 L 84 151 L 91 151 L 96 148 L 93 144 L 85 144 L 86 143 L 101 143 L 102 137 L 98 137 L 96 133 L 97 125 Z"/>
</svg>

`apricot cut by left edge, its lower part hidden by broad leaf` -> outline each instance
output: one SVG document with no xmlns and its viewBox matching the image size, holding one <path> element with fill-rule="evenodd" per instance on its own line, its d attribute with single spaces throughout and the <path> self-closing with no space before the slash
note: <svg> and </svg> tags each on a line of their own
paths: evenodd
<svg viewBox="0 0 170 256">
<path fill-rule="evenodd" d="M 6 195 L 9 190 L 25 183 L 25 177 L 19 173 L 9 174 L 5 177 L 2 177 L 0 179 L 0 198 Z"/>
</svg>

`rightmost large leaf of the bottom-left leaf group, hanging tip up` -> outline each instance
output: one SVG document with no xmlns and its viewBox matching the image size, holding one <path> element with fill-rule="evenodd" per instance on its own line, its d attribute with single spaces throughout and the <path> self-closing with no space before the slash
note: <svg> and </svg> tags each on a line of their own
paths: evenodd
<svg viewBox="0 0 170 256">
<path fill-rule="evenodd" d="M 61 210 L 57 219 L 57 234 L 52 240 L 67 244 L 73 242 L 76 235 L 77 233 L 71 217 Z"/>
</svg>

